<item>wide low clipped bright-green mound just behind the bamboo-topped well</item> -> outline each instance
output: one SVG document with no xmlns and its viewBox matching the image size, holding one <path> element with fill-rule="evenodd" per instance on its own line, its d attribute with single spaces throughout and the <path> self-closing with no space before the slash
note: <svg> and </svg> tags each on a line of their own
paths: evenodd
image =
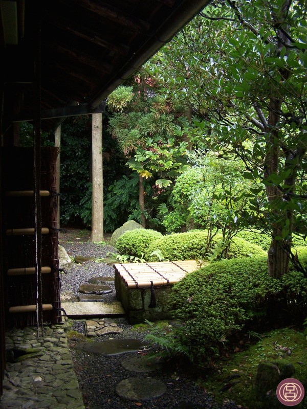
<svg viewBox="0 0 307 409">
<path fill-rule="evenodd" d="M 145 257 L 149 261 L 158 261 L 157 256 L 150 256 L 153 251 L 160 251 L 164 260 L 205 259 L 208 254 L 217 250 L 222 242 L 222 235 L 215 235 L 211 244 L 206 231 L 175 233 L 152 242 Z M 245 256 L 262 256 L 264 251 L 256 244 L 234 237 L 230 244 L 228 258 Z"/>
</svg>

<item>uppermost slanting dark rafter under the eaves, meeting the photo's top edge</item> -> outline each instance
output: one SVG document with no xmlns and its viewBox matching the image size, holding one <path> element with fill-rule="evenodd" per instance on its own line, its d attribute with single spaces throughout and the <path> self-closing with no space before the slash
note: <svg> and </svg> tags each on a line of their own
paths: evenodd
<svg viewBox="0 0 307 409">
<path fill-rule="evenodd" d="M 133 17 L 127 13 L 123 13 L 122 10 L 118 10 L 115 7 L 109 6 L 107 3 L 101 1 L 79 0 L 78 6 L 81 6 L 86 10 L 90 10 L 96 15 L 98 14 L 107 20 L 114 21 L 116 24 L 138 33 L 146 34 L 150 27 L 147 21 Z"/>
</svg>

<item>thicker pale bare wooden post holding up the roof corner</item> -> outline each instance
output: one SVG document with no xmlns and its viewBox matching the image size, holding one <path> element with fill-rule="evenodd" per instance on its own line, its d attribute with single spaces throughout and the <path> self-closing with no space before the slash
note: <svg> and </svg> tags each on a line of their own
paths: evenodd
<svg viewBox="0 0 307 409">
<path fill-rule="evenodd" d="M 103 241 L 102 113 L 92 115 L 92 241 Z"/>
</svg>

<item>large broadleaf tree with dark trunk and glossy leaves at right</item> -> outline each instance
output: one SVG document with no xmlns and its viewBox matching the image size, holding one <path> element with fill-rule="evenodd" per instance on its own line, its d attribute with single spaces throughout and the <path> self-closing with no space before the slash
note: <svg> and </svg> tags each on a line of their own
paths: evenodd
<svg viewBox="0 0 307 409">
<path fill-rule="evenodd" d="M 271 233 L 275 278 L 290 260 L 306 274 L 292 246 L 307 236 L 306 33 L 299 1 L 217 0 L 146 65 L 190 106 L 203 146 L 240 158 L 258 184 L 245 221 Z"/>
</svg>

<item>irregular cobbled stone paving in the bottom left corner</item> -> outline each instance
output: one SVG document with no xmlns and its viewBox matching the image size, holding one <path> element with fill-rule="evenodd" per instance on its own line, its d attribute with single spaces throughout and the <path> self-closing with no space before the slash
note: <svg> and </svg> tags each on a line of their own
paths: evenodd
<svg viewBox="0 0 307 409">
<path fill-rule="evenodd" d="M 7 365 L 0 409 L 85 409 L 65 329 L 67 323 L 6 334 Z"/>
</svg>

